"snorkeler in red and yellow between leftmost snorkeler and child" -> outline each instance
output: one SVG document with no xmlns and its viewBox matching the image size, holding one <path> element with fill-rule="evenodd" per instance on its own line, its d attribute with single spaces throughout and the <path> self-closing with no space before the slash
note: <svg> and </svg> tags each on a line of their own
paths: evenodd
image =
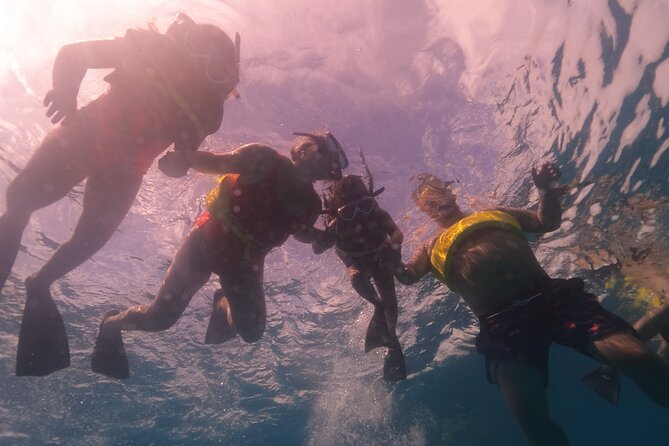
<svg viewBox="0 0 669 446">
<path fill-rule="evenodd" d="M 330 132 L 300 134 L 291 159 L 262 144 L 232 152 L 170 152 L 164 164 L 186 165 L 223 174 L 207 197 L 207 210 L 195 221 L 177 251 L 153 301 L 121 313 L 110 312 L 100 324 L 91 360 L 93 371 L 128 378 L 122 330 L 170 328 L 212 273 L 221 282 L 205 336 L 220 344 L 237 334 L 258 341 L 265 332 L 263 291 L 265 256 L 290 235 L 313 243 L 324 237 L 314 228 L 321 199 L 312 183 L 339 180 L 348 160 Z"/>
</svg>

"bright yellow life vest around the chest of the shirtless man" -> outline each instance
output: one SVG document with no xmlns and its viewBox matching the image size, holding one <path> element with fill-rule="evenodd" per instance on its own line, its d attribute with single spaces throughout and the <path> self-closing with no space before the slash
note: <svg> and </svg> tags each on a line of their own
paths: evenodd
<svg viewBox="0 0 669 446">
<path fill-rule="evenodd" d="M 434 243 L 430 263 L 432 263 L 432 270 L 437 278 L 451 290 L 454 289 L 451 278 L 453 254 L 468 234 L 485 228 L 503 229 L 525 238 L 520 223 L 511 215 L 502 211 L 476 212 L 449 226 Z"/>
</svg>

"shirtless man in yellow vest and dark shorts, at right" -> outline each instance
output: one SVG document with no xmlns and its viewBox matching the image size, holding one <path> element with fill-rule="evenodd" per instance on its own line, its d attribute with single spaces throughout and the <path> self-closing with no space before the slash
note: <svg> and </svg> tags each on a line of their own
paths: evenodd
<svg viewBox="0 0 669 446">
<path fill-rule="evenodd" d="M 460 294 L 479 319 L 476 349 L 486 358 L 488 380 L 499 385 L 528 443 L 542 446 L 568 444 L 545 392 L 552 342 L 619 370 L 669 407 L 669 362 L 604 310 L 583 280 L 549 277 L 524 237 L 559 228 L 559 175 L 552 163 L 532 169 L 536 212 L 498 207 L 471 215 L 459 208 L 449 184 L 424 176 L 415 202 L 444 230 L 396 272 L 410 284 L 432 271 Z"/>
</svg>

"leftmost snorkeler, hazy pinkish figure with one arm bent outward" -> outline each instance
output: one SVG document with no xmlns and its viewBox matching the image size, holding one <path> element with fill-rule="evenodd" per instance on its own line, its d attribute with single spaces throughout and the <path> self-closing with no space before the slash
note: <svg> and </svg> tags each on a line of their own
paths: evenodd
<svg viewBox="0 0 669 446">
<path fill-rule="evenodd" d="M 86 180 L 83 210 L 70 240 L 26 280 L 16 374 L 48 375 L 70 365 L 63 320 L 51 284 L 95 254 L 130 209 L 154 158 L 174 145 L 198 149 L 223 119 L 239 82 L 239 36 L 179 14 L 165 34 L 130 29 L 124 37 L 63 46 L 45 106 L 58 124 L 7 187 L 0 217 L 0 289 L 31 214 Z M 113 68 L 107 92 L 77 108 L 88 69 Z M 174 177 L 187 167 L 165 171 Z"/>
</svg>

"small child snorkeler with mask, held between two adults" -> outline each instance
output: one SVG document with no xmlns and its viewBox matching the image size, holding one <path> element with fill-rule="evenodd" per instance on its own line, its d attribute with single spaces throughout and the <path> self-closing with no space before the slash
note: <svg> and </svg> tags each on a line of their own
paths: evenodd
<svg viewBox="0 0 669 446">
<path fill-rule="evenodd" d="M 407 374 L 402 346 L 395 333 L 397 295 L 393 272 L 401 261 L 404 235 L 374 199 L 383 189 L 371 189 L 357 175 L 347 175 L 336 182 L 326 200 L 327 237 L 312 246 L 320 254 L 334 245 L 353 289 L 374 305 L 365 336 L 365 352 L 387 347 L 383 377 L 398 381 L 406 379 Z"/>
</svg>

